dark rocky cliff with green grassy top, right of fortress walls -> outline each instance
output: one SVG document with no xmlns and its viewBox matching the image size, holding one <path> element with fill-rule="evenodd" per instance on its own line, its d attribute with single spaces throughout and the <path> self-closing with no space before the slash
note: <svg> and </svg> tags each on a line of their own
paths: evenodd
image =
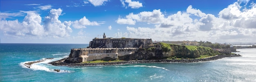
<svg viewBox="0 0 256 82">
<path fill-rule="evenodd" d="M 139 49 L 131 55 L 119 57 L 120 60 L 148 60 L 176 56 L 177 58 L 199 58 L 200 55 L 213 55 L 214 51 L 209 47 L 181 46 L 173 44 L 158 43 L 158 47 Z"/>
</svg>

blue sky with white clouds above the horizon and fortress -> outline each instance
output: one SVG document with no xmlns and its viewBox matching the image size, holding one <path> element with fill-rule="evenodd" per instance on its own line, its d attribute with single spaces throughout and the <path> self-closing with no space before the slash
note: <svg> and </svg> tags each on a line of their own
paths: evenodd
<svg viewBox="0 0 256 82">
<path fill-rule="evenodd" d="M 1 43 L 256 43 L 256 0 L 0 0 Z"/>
</svg>

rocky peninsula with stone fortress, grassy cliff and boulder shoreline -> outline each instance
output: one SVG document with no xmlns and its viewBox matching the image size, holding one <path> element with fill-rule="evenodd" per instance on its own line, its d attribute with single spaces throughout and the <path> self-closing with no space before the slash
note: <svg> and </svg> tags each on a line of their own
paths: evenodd
<svg viewBox="0 0 256 82">
<path fill-rule="evenodd" d="M 195 59 L 208 56 L 211 58 Z M 162 42 L 153 43 L 151 39 L 106 38 L 104 33 L 103 38 L 94 38 L 87 48 L 71 49 L 68 58 L 50 62 L 49 64 L 58 66 L 90 66 L 152 62 L 200 62 L 234 56 L 240 55 L 231 55 L 229 51 L 213 51 L 209 47 L 202 46 L 175 45 Z M 170 60 L 176 58 L 180 59 Z M 95 60 L 121 61 L 90 63 L 90 61 Z"/>
</svg>

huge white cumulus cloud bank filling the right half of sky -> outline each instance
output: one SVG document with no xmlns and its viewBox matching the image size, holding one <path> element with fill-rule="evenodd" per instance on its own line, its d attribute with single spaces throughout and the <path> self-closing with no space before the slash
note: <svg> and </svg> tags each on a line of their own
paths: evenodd
<svg viewBox="0 0 256 82">
<path fill-rule="evenodd" d="M 240 0 L 239 0 L 240 1 Z M 245 0 L 245 2 L 248 2 Z M 153 40 L 204 40 L 213 42 L 255 41 L 256 37 L 256 5 L 242 7 L 239 2 L 230 4 L 221 10 L 218 16 L 206 14 L 191 5 L 185 12 L 166 16 L 160 9 L 129 13 L 125 18 L 119 16 L 118 24 L 135 25 L 137 22 L 154 24 L 153 27 L 126 27 L 127 37 L 152 38 Z M 197 16 L 198 18 L 192 18 Z M 126 35 L 125 34 L 125 35 Z M 123 37 L 118 32 L 116 36 Z"/>
</svg>

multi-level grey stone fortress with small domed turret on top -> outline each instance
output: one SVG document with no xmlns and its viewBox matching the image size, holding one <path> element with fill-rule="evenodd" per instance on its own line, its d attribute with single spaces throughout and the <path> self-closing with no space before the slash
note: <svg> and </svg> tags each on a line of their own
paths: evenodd
<svg viewBox="0 0 256 82">
<path fill-rule="evenodd" d="M 154 47 L 151 39 L 106 38 L 104 33 L 103 38 L 94 38 L 87 48 L 71 49 L 69 58 L 65 62 L 115 60 L 119 57 L 123 60 L 124 56 L 149 47 Z"/>
</svg>

